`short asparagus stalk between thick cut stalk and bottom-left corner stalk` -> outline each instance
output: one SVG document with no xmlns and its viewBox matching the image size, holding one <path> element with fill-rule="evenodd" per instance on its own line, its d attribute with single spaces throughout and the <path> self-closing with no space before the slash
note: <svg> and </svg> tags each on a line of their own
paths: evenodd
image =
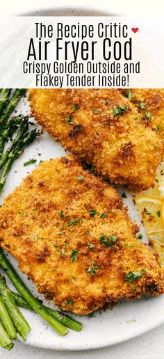
<svg viewBox="0 0 164 359">
<path fill-rule="evenodd" d="M 8 310 L 6 309 L 6 306 L 3 302 L 1 295 L 0 295 L 0 317 L 1 320 L 3 321 L 3 326 L 6 329 L 6 333 L 8 333 L 10 339 L 17 339 L 17 333 L 15 327 L 13 326 L 13 322 L 10 318 L 10 315 L 8 314 Z"/>
</svg>

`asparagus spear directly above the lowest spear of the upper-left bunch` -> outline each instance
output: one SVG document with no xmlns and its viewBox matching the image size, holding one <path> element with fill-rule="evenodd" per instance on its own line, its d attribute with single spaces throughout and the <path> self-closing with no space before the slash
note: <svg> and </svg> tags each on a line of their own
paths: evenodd
<svg viewBox="0 0 164 359">
<path fill-rule="evenodd" d="M 11 145 L 6 150 L 5 154 L 3 154 L 3 157 L 1 157 L 0 169 L 4 166 L 4 164 L 8 160 L 9 154 L 11 154 L 12 151 L 14 151 L 14 149 L 15 149 L 15 147 L 17 147 L 17 145 L 20 145 L 22 136 L 24 136 L 27 129 L 28 129 L 28 116 L 24 117 L 24 119 L 22 120 L 19 131 L 17 132 L 17 135 L 15 136 Z M 17 158 L 17 157 L 15 157 L 15 158 Z"/>
</svg>

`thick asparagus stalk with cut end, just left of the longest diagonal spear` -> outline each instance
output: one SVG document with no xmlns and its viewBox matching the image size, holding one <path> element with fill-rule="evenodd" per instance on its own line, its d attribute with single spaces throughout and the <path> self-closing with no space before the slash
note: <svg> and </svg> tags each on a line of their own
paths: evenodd
<svg viewBox="0 0 164 359">
<path fill-rule="evenodd" d="M 15 324 L 15 328 L 23 337 L 23 339 L 26 340 L 27 334 L 31 330 L 31 327 L 29 326 L 23 314 L 19 311 L 19 308 L 15 304 L 13 296 L 10 293 L 10 289 L 6 285 L 6 280 L 2 276 L 0 276 L 0 294 L 3 301 L 5 302 L 10 317 Z"/>
</svg>

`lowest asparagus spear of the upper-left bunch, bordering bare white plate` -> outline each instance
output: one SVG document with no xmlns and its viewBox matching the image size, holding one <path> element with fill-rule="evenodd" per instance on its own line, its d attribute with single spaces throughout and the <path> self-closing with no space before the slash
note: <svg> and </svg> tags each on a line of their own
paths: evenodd
<svg viewBox="0 0 164 359">
<path fill-rule="evenodd" d="M 4 164 L 6 161 L 6 164 L 0 176 L 0 194 L 3 190 L 4 185 L 6 184 L 6 177 L 8 175 L 11 166 L 13 165 L 13 162 L 15 161 L 15 159 L 17 159 L 20 156 L 20 154 L 24 152 L 24 148 L 26 147 L 26 145 L 32 143 L 37 136 L 40 136 L 40 134 L 42 134 L 42 131 L 37 131 L 36 129 L 33 129 L 33 131 L 31 132 L 27 132 L 26 134 L 24 134 L 22 138 L 20 138 L 19 143 L 13 146 L 13 149 L 8 154 L 7 161 L 6 161 L 6 157 L 5 159 L 3 157 L 1 158 L 0 168 L 1 168 L 1 163 Z M 6 154 L 4 154 L 4 156 L 5 155 Z"/>
</svg>

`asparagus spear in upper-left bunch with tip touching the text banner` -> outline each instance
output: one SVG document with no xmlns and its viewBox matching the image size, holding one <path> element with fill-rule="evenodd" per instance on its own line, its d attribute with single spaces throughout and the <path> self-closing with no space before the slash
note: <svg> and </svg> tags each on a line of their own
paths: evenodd
<svg viewBox="0 0 164 359">
<path fill-rule="evenodd" d="M 15 110 L 15 107 L 17 106 L 17 102 L 19 101 L 20 97 L 26 93 L 25 88 L 17 88 L 13 95 L 10 97 L 8 104 L 3 109 L 0 117 L 0 127 L 2 128 L 3 125 L 8 120 L 10 114 Z"/>
</svg>

